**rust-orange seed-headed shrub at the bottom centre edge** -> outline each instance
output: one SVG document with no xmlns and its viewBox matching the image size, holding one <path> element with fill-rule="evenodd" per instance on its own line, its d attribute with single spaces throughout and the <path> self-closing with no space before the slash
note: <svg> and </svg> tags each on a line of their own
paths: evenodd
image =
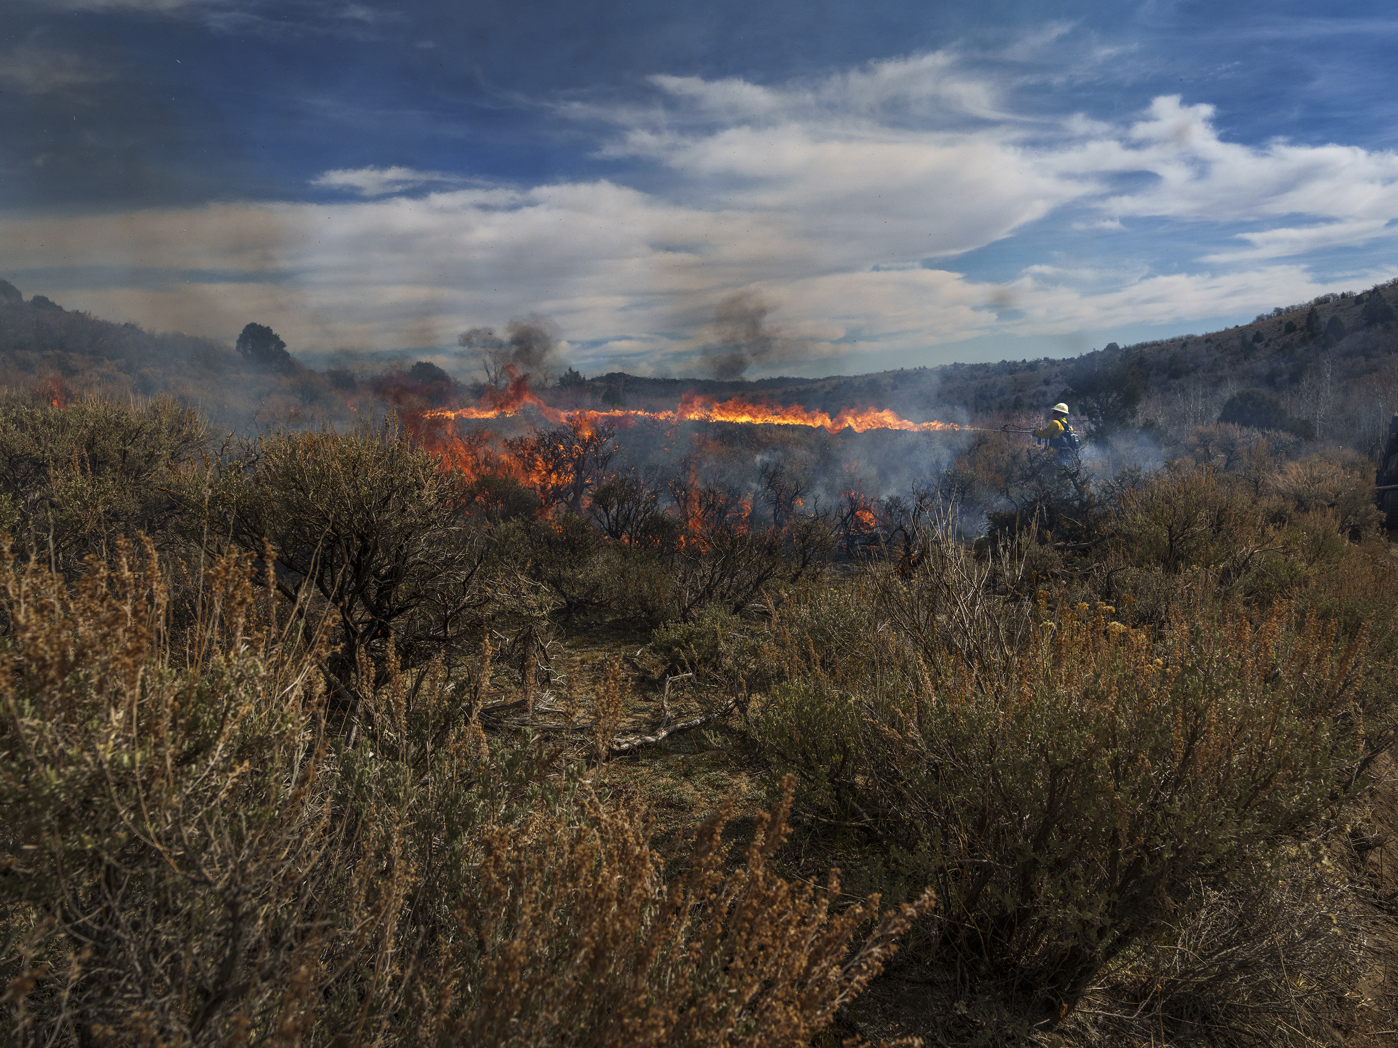
<svg viewBox="0 0 1398 1048">
<path fill-rule="evenodd" d="M 481 889 L 456 912 L 460 963 L 477 975 L 443 1031 L 464 1044 L 808 1044 L 931 900 L 895 910 L 849 956 L 878 900 L 832 915 L 833 875 L 823 890 L 773 875 L 790 802 L 788 783 L 727 876 L 720 812 L 668 889 L 635 823 L 596 806 L 582 826 L 488 837 Z"/>
</svg>

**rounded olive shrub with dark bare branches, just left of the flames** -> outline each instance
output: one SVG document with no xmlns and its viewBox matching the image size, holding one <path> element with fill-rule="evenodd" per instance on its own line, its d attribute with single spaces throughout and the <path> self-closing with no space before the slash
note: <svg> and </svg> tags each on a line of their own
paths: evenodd
<svg viewBox="0 0 1398 1048">
<path fill-rule="evenodd" d="M 359 654 L 397 653 L 419 667 L 478 644 L 487 616 L 530 625 L 547 601 L 516 574 L 491 574 L 467 513 L 470 482 L 443 471 L 390 421 L 352 433 L 273 433 L 207 470 L 186 470 L 187 525 L 210 553 L 271 551 L 274 583 L 299 606 L 334 609 L 347 681 Z"/>
</svg>

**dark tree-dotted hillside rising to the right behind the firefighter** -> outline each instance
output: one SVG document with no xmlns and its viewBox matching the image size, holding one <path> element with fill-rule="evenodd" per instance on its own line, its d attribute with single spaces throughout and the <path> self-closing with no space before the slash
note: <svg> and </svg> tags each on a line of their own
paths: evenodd
<svg viewBox="0 0 1398 1048">
<path fill-rule="evenodd" d="M 1398 411 L 1398 282 L 1323 295 L 1223 331 L 1113 342 L 1068 359 L 759 381 L 614 373 L 584 387 L 594 401 L 610 393 L 629 407 L 674 405 L 696 388 L 773 397 L 832 415 L 843 407 L 877 405 L 916 421 L 997 425 L 1037 425 L 1050 405 L 1067 401 L 1081 419 L 1145 426 L 1162 436 L 1212 425 L 1230 398 L 1255 390 L 1306 423 L 1309 433 L 1373 454 Z"/>
</svg>

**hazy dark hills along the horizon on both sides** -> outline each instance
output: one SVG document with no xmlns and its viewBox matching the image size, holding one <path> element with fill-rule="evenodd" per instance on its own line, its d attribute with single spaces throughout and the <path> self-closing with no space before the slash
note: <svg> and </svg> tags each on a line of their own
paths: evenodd
<svg viewBox="0 0 1398 1048">
<path fill-rule="evenodd" d="M 25 300 L 0 281 L 0 383 L 62 383 L 74 394 L 169 393 L 199 404 L 215 426 L 351 423 L 372 401 L 470 401 L 470 387 L 421 363 L 365 376 L 240 355 L 185 334 L 155 334 Z M 1078 358 L 951 363 L 825 379 L 719 381 L 614 372 L 565 376 L 538 390 L 561 407 L 672 408 L 689 390 L 712 397 L 772 397 L 836 414 L 886 407 L 906 418 L 1028 423 L 1065 400 L 1088 428 L 1145 426 L 1177 435 L 1219 419 L 1232 397 L 1261 393 L 1307 432 L 1374 453 L 1398 409 L 1398 282 L 1274 310 L 1251 324 L 1137 345 L 1110 344 Z"/>
</svg>

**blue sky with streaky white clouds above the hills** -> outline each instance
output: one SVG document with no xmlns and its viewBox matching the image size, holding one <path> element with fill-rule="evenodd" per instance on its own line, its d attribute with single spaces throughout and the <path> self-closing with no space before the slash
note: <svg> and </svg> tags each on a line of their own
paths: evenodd
<svg viewBox="0 0 1398 1048">
<path fill-rule="evenodd" d="M 1332 10 L 10 0 L 0 274 L 457 370 L 538 314 L 703 373 L 735 300 L 754 377 L 1204 331 L 1398 275 L 1398 10 Z"/>
</svg>

